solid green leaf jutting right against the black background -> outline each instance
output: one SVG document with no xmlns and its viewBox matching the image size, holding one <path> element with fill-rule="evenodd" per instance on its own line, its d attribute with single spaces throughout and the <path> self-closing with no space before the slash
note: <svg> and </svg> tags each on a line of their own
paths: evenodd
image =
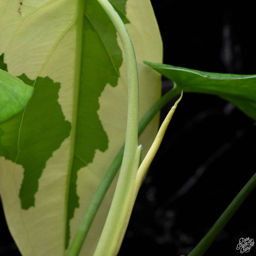
<svg viewBox="0 0 256 256">
<path fill-rule="evenodd" d="M 209 73 L 145 62 L 175 83 L 177 90 L 209 93 L 233 102 L 247 116 L 256 120 L 256 75 Z"/>
</svg>

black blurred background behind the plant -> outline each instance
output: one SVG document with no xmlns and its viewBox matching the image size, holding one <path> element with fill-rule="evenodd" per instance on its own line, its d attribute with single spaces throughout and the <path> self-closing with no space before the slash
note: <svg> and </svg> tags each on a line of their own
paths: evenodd
<svg viewBox="0 0 256 256">
<path fill-rule="evenodd" d="M 239 6 L 151 0 L 163 62 L 197 70 L 255 74 L 255 14 Z M 249 11 L 248 11 L 249 9 Z M 163 79 L 163 93 L 172 84 Z M 161 113 L 166 116 L 175 101 Z M 185 93 L 139 192 L 119 256 L 187 255 L 255 173 L 256 126 L 215 96 Z M 256 239 L 256 191 L 205 256 L 240 255 Z M 20 255 L 0 209 L 0 255 Z M 247 255 L 255 255 L 253 247 Z"/>
</svg>

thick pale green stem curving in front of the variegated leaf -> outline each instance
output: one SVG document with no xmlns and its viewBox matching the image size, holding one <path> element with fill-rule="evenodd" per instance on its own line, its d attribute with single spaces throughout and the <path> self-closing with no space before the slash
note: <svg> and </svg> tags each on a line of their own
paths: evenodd
<svg viewBox="0 0 256 256">
<path fill-rule="evenodd" d="M 131 38 L 111 3 L 108 0 L 97 0 L 105 10 L 116 28 L 124 49 L 128 73 L 128 116 L 125 137 L 125 148 L 121 170 L 116 184 L 108 217 L 102 230 L 101 237 L 94 252 L 94 256 L 111 256 L 118 250 L 120 237 L 126 224 L 127 206 L 131 197 L 131 189 L 136 177 L 138 163 L 138 116 L 139 116 L 139 81 L 137 61 Z"/>
</svg>

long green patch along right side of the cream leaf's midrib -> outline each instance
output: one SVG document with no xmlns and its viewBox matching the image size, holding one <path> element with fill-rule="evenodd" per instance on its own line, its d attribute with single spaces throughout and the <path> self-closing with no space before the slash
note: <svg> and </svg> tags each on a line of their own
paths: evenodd
<svg viewBox="0 0 256 256">
<path fill-rule="evenodd" d="M 125 22 L 124 1 L 113 0 L 116 11 Z M 96 149 L 108 148 L 108 136 L 102 127 L 97 111 L 99 97 L 105 86 L 115 87 L 122 65 L 122 51 L 117 43 L 116 29 L 97 1 L 84 3 L 83 45 L 79 88 L 76 139 L 67 207 L 66 248 L 70 240 L 70 220 L 79 207 L 76 193 L 77 172 L 93 162 Z M 104 24 L 104 26 L 102 26 Z M 90 117 L 90 118 L 88 118 Z"/>
</svg>

